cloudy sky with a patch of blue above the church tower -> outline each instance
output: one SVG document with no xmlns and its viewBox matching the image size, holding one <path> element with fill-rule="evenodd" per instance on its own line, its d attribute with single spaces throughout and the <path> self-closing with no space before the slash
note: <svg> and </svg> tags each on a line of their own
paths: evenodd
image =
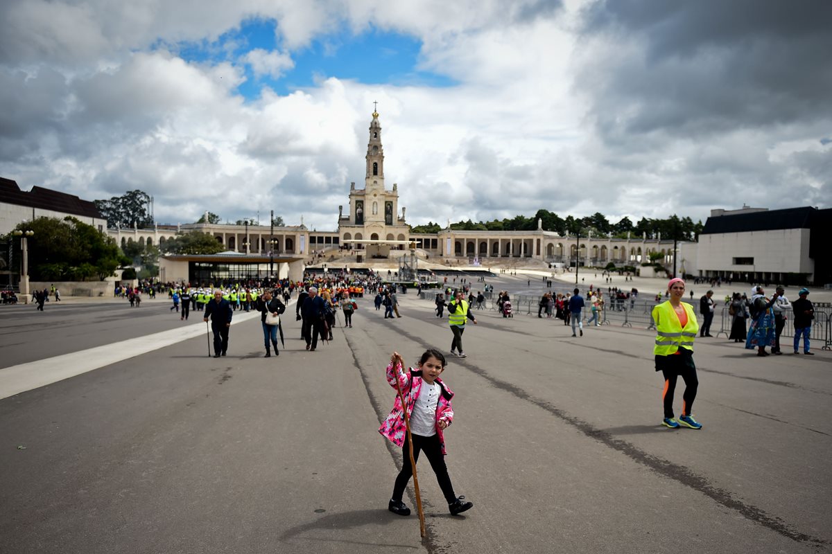
<svg viewBox="0 0 832 554">
<path fill-rule="evenodd" d="M 5 0 L 0 176 L 334 230 L 832 204 L 832 2 Z"/>
</svg>

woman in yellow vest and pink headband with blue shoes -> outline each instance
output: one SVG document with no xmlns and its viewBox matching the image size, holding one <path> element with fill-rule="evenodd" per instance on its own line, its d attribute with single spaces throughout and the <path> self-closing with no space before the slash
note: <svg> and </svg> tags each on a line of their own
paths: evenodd
<svg viewBox="0 0 832 554">
<path fill-rule="evenodd" d="M 693 363 L 693 341 L 699 331 L 696 312 L 693 306 L 681 302 L 685 295 L 685 282 L 679 278 L 671 279 L 667 283 L 670 300 L 661 302 L 652 311 L 653 321 L 656 321 L 656 371 L 665 376 L 665 388 L 662 398 L 665 404 L 665 419 L 661 424 L 671 429 L 680 426 L 689 429 L 702 429 L 702 425 L 693 419 L 691 408 L 696 399 L 696 365 Z M 682 395 L 681 415 L 673 418 L 673 393 L 676 390 L 676 380 L 681 375 L 685 380 L 685 392 Z"/>
</svg>

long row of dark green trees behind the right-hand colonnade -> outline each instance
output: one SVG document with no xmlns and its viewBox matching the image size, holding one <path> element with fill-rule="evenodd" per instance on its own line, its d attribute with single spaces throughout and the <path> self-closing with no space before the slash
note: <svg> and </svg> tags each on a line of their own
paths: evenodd
<svg viewBox="0 0 832 554">
<path fill-rule="evenodd" d="M 539 209 L 532 217 L 516 215 L 512 219 L 494 219 L 493 221 L 474 223 L 459 221 L 451 223 L 452 229 L 463 231 L 533 231 L 537 229 L 537 220 L 540 219 L 544 231 L 554 231 L 562 235 L 575 235 L 580 233 L 586 235 L 592 231 L 596 237 L 626 238 L 627 233 L 631 236 L 641 237 L 646 233 L 647 238 L 678 238 L 680 240 L 696 240 L 702 232 L 702 222 L 693 223 L 691 218 L 679 218 L 676 214 L 666 219 L 641 218 L 633 224 L 630 218 L 622 218 L 617 223 L 610 223 L 602 213 L 593 213 L 585 218 L 573 218 L 567 215 L 562 218 L 557 213 L 547 209 Z M 413 233 L 438 233 L 442 227 L 438 223 L 429 222 L 427 225 L 412 227 Z"/>
</svg>

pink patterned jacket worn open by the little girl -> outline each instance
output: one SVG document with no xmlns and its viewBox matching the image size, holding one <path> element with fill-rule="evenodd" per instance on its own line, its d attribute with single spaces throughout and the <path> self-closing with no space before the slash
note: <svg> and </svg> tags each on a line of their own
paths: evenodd
<svg viewBox="0 0 832 554">
<path fill-rule="evenodd" d="M 395 370 L 395 375 L 394 375 Z M 418 399 L 418 394 L 422 390 L 422 370 L 410 368 L 407 373 L 402 369 L 401 364 L 393 364 L 387 366 L 387 382 L 394 389 L 396 388 L 396 376 L 399 377 L 399 386 L 402 388 L 402 395 L 404 401 L 408 404 L 408 417 L 413 414 L 414 404 Z M 439 402 L 436 406 L 436 434 L 439 435 L 439 444 L 442 445 L 442 453 L 445 454 L 445 437 L 442 429 L 439 429 L 438 423 L 444 420 L 448 425 L 453 421 L 453 407 L 451 406 L 451 399 L 453 392 L 448 389 L 439 378 L 435 381 L 438 383 L 442 393 L 439 395 Z M 396 446 L 404 446 L 404 441 L 407 439 L 407 428 L 404 426 L 404 415 L 402 414 L 402 401 L 399 400 L 399 394 L 396 394 L 396 401 L 393 404 L 393 409 L 384 419 L 384 423 L 379 428 L 379 433 L 393 441 Z"/>
</svg>

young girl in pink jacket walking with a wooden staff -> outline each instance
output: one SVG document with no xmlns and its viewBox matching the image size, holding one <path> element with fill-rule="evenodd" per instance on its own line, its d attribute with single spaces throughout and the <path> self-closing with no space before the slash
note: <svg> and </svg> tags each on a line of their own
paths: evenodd
<svg viewBox="0 0 832 554">
<path fill-rule="evenodd" d="M 396 477 L 388 508 L 400 516 L 410 515 L 410 508 L 402 502 L 402 498 L 404 488 L 413 475 L 422 536 L 424 516 L 416 480 L 416 462 L 420 451 L 424 451 L 433 473 L 436 473 L 439 488 L 448 502 L 448 511 L 455 516 L 473 507 L 473 503 L 466 502 L 465 497 L 457 497 L 453 492 L 443 458 L 443 430 L 453 421 L 453 392 L 439 379 L 446 363 L 441 352 L 428 349 L 419 359 L 418 369 L 410 368 L 405 372 L 404 361 L 398 352 L 390 356 L 390 364 L 387 366 L 387 382 L 397 390 L 397 398 L 387 419 L 381 424 L 379 433 L 402 447 L 403 458 L 402 470 Z"/>
</svg>

